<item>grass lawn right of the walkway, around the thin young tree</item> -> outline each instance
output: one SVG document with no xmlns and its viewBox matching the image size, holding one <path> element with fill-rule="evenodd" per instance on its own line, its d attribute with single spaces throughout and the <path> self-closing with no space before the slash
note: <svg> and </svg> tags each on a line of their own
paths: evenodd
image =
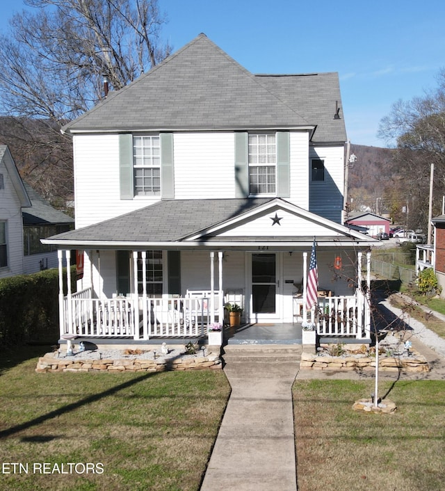
<svg viewBox="0 0 445 491">
<path fill-rule="evenodd" d="M 399 381 L 396 413 L 354 412 L 372 392 L 373 380 L 294 384 L 299 491 L 444 490 L 445 381 Z"/>
</svg>

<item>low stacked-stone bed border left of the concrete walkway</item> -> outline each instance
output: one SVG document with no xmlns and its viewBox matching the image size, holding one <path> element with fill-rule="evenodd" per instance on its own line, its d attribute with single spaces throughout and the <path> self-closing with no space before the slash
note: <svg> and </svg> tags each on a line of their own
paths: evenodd
<svg viewBox="0 0 445 491">
<path fill-rule="evenodd" d="M 145 371 L 157 372 L 168 370 L 201 370 L 201 369 L 222 369 L 219 353 L 209 353 L 207 356 L 196 357 L 175 357 L 159 358 L 158 360 L 147 360 L 144 358 L 126 358 L 119 360 L 82 360 L 56 358 L 53 353 L 46 353 L 38 360 L 38 373 L 47 372 L 87 372 L 87 371 L 106 371 L 117 373 L 123 371 Z"/>
</svg>

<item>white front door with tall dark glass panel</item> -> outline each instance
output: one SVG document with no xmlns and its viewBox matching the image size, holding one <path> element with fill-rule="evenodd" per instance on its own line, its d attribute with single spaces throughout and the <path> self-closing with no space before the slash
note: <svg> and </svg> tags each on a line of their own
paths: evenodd
<svg viewBox="0 0 445 491">
<path fill-rule="evenodd" d="M 252 254 L 252 319 L 277 319 L 277 258 Z"/>
</svg>

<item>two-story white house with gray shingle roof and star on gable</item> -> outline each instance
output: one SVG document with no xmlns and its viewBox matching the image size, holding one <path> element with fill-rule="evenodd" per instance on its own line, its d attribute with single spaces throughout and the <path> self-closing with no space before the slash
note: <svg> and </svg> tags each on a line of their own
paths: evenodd
<svg viewBox="0 0 445 491">
<path fill-rule="evenodd" d="M 318 332 L 369 339 L 357 281 L 375 241 L 342 223 L 337 73 L 254 75 L 201 34 L 63 131 L 76 230 L 43 242 L 84 268 L 61 335 L 204 336 L 226 301 L 301 322 L 315 238 Z"/>
</svg>

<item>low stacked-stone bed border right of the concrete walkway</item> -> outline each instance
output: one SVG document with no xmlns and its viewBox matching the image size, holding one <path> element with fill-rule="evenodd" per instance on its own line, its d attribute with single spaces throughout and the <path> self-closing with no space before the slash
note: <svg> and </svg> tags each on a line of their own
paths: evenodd
<svg viewBox="0 0 445 491">
<path fill-rule="evenodd" d="M 375 369 L 375 358 L 369 356 L 320 356 L 312 353 L 302 353 L 301 369 L 312 370 L 345 370 L 357 371 Z M 379 370 L 381 371 L 411 371 L 426 372 L 430 367 L 426 358 L 419 353 L 414 353 L 410 357 L 382 357 L 379 358 Z"/>
</svg>

